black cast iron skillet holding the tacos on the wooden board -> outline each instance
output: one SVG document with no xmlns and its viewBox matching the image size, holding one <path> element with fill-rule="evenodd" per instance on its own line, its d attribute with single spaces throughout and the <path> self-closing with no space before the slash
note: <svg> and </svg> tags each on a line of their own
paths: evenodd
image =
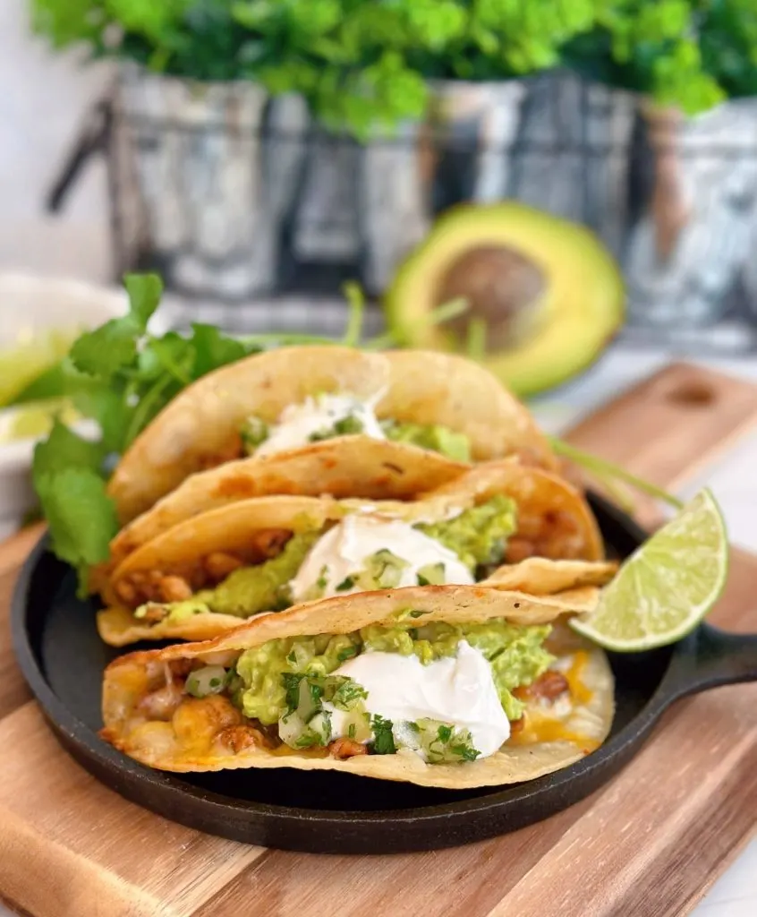
<svg viewBox="0 0 757 917">
<path fill-rule="evenodd" d="M 592 498 L 609 550 L 625 557 L 644 532 Z M 13 599 L 16 658 L 60 744 L 97 779 L 153 812 L 250 844 L 318 853 L 390 853 L 466 844 L 560 812 L 597 790 L 639 750 L 665 708 L 686 694 L 757 679 L 757 635 L 706 624 L 674 647 L 611 657 L 617 712 L 604 746 L 569 768 L 504 790 L 431 790 L 346 774 L 236 770 L 173 776 L 101 741 L 104 646 L 91 602 L 43 537 Z"/>
</svg>

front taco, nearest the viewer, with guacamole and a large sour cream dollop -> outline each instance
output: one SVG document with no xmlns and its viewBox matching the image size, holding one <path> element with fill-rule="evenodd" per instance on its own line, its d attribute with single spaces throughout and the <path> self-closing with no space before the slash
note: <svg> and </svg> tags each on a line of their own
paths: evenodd
<svg viewBox="0 0 757 917">
<path fill-rule="evenodd" d="M 609 734 L 607 657 L 554 597 L 480 586 L 367 592 L 120 657 L 104 729 L 151 768 L 335 770 L 463 789 L 534 779 Z"/>
</svg>

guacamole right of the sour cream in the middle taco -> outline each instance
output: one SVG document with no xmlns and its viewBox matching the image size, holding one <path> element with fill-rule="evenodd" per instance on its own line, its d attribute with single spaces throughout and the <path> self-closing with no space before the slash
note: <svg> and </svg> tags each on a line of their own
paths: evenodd
<svg viewBox="0 0 757 917">
<path fill-rule="evenodd" d="M 469 569 L 475 570 L 480 565 L 502 562 L 507 539 L 517 528 L 516 507 L 510 497 L 498 493 L 454 519 L 415 527 L 455 551 Z"/>
</svg>

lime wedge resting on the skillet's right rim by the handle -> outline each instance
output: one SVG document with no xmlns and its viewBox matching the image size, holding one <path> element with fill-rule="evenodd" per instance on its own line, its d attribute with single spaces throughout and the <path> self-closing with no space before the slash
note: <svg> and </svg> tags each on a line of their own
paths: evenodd
<svg viewBox="0 0 757 917">
<path fill-rule="evenodd" d="M 729 546 L 706 489 L 639 547 L 574 630 L 620 653 L 667 646 L 699 624 L 725 586 Z"/>
</svg>

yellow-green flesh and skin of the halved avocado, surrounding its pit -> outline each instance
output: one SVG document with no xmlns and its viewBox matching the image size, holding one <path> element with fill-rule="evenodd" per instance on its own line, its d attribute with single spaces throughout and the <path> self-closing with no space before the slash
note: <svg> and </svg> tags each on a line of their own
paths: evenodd
<svg viewBox="0 0 757 917">
<path fill-rule="evenodd" d="M 549 281 L 547 318 L 514 348 L 483 364 L 521 396 L 545 392 L 586 370 L 625 317 L 625 289 L 609 250 L 586 226 L 527 204 L 459 204 L 400 264 L 384 297 L 387 325 L 404 345 L 462 350 L 444 327 L 423 326 L 449 265 L 478 246 L 504 245 L 532 259 Z"/>
</svg>

